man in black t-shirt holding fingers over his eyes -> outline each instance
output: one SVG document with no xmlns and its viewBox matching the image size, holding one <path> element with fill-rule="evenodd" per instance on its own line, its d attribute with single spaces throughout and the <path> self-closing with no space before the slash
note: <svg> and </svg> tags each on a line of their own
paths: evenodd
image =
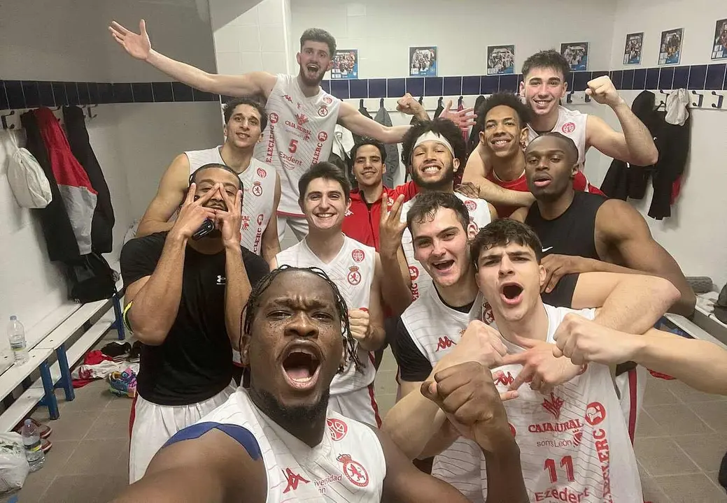
<svg viewBox="0 0 727 503">
<path fill-rule="evenodd" d="M 241 332 L 225 313 L 240 313 L 251 285 L 268 272 L 262 258 L 240 245 L 237 173 L 208 164 L 190 181 L 172 229 L 137 237 L 121 250 L 124 321 L 142 343 L 129 420 L 132 483 L 169 437 L 235 390 L 230 339 Z M 214 230 L 192 239 L 206 219 Z"/>
</svg>

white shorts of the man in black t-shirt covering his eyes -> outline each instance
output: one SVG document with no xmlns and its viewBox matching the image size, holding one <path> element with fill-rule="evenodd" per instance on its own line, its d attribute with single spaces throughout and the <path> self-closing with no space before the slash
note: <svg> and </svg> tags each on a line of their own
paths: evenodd
<svg viewBox="0 0 727 503">
<path fill-rule="evenodd" d="M 237 389 L 235 383 L 208 400 L 191 405 L 157 405 L 139 393 L 129 418 L 129 483 L 142 478 L 151 459 L 177 431 L 201 420 L 227 401 Z"/>
</svg>

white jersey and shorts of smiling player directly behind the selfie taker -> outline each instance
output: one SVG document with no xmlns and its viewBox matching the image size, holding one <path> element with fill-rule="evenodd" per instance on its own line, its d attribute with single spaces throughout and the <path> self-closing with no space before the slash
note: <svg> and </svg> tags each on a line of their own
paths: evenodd
<svg viewBox="0 0 727 503">
<path fill-rule="evenodd" d="M 338 255 L 324 263 L 308 248 L 308 238 L 298 242 L 276 255 L 278 266 L 318 267 L 323 269 L 336 284 L 349 309 L 368 309 L 371 296 L 371 282 L 376 269 L 376 250 L 344 235 L 343 246 Z M 329 408 L 365 422 L 380 426 L 378 406 L 374 398 L 374 356 L 357 345 L 361 369 L 345 362 L 345 369 L 334 377 L 331 383 Z"/>
</svg>

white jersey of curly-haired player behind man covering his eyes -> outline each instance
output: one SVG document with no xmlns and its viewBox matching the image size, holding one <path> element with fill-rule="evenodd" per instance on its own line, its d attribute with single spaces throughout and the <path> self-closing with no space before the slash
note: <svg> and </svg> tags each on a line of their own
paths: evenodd
<svg viewBox="0 0 727 503">
<path fill-rule="evenodd" d="M 205 164 L 225 164 L 220 155 L 221 148 L 185 152 L 189 160 L 190 174 Z M 252 253 L 260 255 L 262 233 L 268 228 L 270 216 L 273 215 L 276 172 L 272 166 L 252 158 L 247 169 L 238 173 L 238 178 L 243 187 L 240 244 Z"/>
</svg>

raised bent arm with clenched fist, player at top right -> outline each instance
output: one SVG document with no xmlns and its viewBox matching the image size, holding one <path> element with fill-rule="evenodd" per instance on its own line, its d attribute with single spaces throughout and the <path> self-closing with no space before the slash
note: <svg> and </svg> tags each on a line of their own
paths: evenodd
<svg viewBox="0 0 727 503">
<path fill-rule="evenodd" d="M 607 75 L 594 78 L 588 83 L 586 94 L 602 105 L 614 110 L 621 123 L 622 133 L 614 131 L 606 122 L 588 115 L 586 145 L 593 146 L 608 157 L 624 160 L 639 166 L 648 166 L 659 159 L 654 139 L 648 128 L 634 115 L 624 99 L 619 96 L 614 83 Z"/>
</svg>

